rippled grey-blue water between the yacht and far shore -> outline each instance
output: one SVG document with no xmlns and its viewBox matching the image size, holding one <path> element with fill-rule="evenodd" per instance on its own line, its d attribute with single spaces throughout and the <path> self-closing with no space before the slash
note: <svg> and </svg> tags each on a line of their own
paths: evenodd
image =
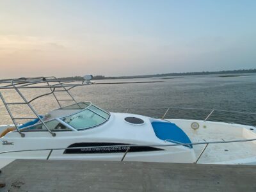
<svg viewBox="0 0 256 192">
<path fill-rule="evenodd" d="M 237 74 L 236 74 L 237 75 Z M 166 77 L 164 77 L 166 78 Z M 137 113 L 154 117 L 163 116 L 169 107 L 209 108 L 232 111 L 256 112 L 256 74 L 238 77 L 184 76 L 182 78 L 161 79 L 115 79 L 100 80 L 97 83 L 129 81 L 164 81 L 139 84 L 98 84 L 74 88 L 71 93 L 78 101 L 90 100 L 97 106 L 110 111 Z M 19 102 L 15 92 L 1 91 L 7 102 Z M 23 90 L 32 99 L 49 90 Z M 58 93 L 60 94 L 60 93 Z M 65 97 L 65 95 L 59 95 Z M 67 98 L 67 97 L 66 97 Z M 40 114 L 58 108 L 54 97 L 47 96 L 32 102 Z M 63 104 L 68 104 L 64 103 Z M 129 109 L 127 109 L 129 108 Z M 15 116 L 28 116 L 30 111 L 24 106 L 12 107 Z M 211 110 L 170 109 L 166 118 L 204 119 Z M 11 124 L 8 113 L 0 103 L 0 124 Z M 31 114 L 31 113 L 30 113 Z M 209 120 L 236 122 L 256 125 L 256 115 L 215 112 Z"/>
</svg>

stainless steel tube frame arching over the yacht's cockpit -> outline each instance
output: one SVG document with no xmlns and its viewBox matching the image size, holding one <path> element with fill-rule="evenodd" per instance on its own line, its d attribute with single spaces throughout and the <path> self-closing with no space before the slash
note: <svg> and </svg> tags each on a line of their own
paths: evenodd
<svg viewBox="0 0 256 192">
<path fill-rule="evenodd" d="M 60 79 L 57 79 L 54 76 L 51 77 L 30 77 L 30 78 L 19 78 L 19 79 L 4 79 L 0 80 L 0 90 L 15 90 L 16 93 L 20 96 L 20 98 L 23 100 L 23 102 L 6 102 L 4 99 L 3 94 L 0 92 L 0 99 L 3 101 L 4 107 L 6 108 L 6 111 L 8 112 L 10 118 L 12 119 L 13 124 L 15 125 L 15 128 L 17 129 L 17 132 L 19 132 L 21 137 L 25 136 L 24 132 L 21 132 L 19 129 L 19 125 L 17 123 L 17 120 L 26 120 L 26 119 L 38 119 L 44 127 L 47 129 L 47 131 L 52 135 L 56 136 L 56 132 L 52 132 L 51 129 L 45 124 L 44 120 L 40 117 L 40 115 L 37 113 L 35 108 L 31 105 L 31 102 L 33 100 L 39 99 L 40 97 L 44 97 L 46 95 L 54 95 L 54 98 L 56 99 L 56 102 L 58 102 L 58 105 L 61 108 L 60 101 L 67 101 L 71 100 L 74 103 L 77 104 L 77 101 L 74 99 L 74 97 L 70 94 L 69 90 L 72 88 L 75 88 L 77 86 L 84 86 L 93 84 L 93 82 L 85 83 L 85 80 L 74 80 L 74 81 L 61 81 Z M 45 85 L 47 83 L 47 85 Z M 54 84 L 53 84 L 54 83 Z M 71 84 L 70 84 L 71 83 Z M 72 84 L 74 83 L 74 84 Z M 42 85 L 43 84 L 43 85 Z M 34 97 L 31 100 L 26 99 L 26 97 L 20 92 L 20 89 L 31 89 L 31 88 L 49 88 L 51 92 L 49 93 L 43 93 L 37 97 Z M 56 90 L 56 88 L 61 88 L 61 90 Z M 54 92 L 65 92 L 68 94 L 68 96 L 71 99 L 58 99 L 56 94 Z M 10 105 L 26 105 L 31 110 L 33 117 L 26 117 L 26 118 L 16 118 L 13 116 L 12 110 L 10 109 Z"/>
</svg>

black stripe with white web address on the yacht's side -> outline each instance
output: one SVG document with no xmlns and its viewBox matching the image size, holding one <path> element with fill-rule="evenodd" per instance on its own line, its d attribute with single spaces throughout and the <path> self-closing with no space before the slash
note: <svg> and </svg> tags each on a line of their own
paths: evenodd
<svg viewBox="0 0 256 192">
<path fill-rule="evenodd" d="M 113 147 L 109 147 L 112 146 Z M 124 153 L 127 150 L 127 146 L 124 147 L 114 147 L 114 145 L 131 145 L 126 143 L 74 143 L 68 146 L 63 154 L 109 154 L 109 153 Z M 98 147 L 99 146 L 99 147 Z M 102 147 L 108 146 L 108 147 Z M 86 148 L 74 148 L 72 147 L 86 147 Z M 149 151 L 159 151 L 164 150 L 162 148 L 156 147 L 140 147 L 131 146 L 129 152 L 149 152 Z"/>
</svg>

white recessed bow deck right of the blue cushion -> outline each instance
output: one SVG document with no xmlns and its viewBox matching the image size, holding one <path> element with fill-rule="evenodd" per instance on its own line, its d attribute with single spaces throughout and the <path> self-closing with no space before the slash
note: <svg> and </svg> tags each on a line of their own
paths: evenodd
<svg viewBox="0 0 256 192">
<path fill-rule="evenodd" d="M 255 127 L 200 120 L 168 120 L 186 132 L 193 143 L 220 141 L 220 143 L 209 145 L 193 145 L 196 157 L 200 156 L 207 145 L 198 163 L 256 164 L 256 141 L 222 143 L 223 141 L 256 140 Z M 198 129 L 191 127 L 195 122 L 199 125 Z"/>
</svg>

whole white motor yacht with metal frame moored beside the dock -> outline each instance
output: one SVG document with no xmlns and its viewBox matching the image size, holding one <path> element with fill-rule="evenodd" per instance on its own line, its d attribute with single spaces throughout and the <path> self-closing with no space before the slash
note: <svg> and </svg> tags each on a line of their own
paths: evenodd
<svg viewBox="0 0 256 192">
<path fill-rule="evenodd" d="M 71 88 L 93 84 L 56 77 L 4 79 L 1 90 L 15 90 L 22 102 L 1 100 L 12 125 L 0 125 L 0 167 L 15 159 L 148 161 L 164 163 L 256 164 L 256 128 L 205 120 L 150 118 L 111 113 L 77 102 Z M 22 89 L 49 88 L 31 100 Z M 65 92 L 74 104 L 62 106 L 56 92 Z M 60 108 L 38 114 L 31 102 L 53 95 Z M 64 99 L 67 100 L 67 99 Z M 10 106 L 24 105 L 33 117 L 13 116 Z M 167 112 L 167 111 L 166 111 Z M 28 120 L 19 124 L 19 120 Z M 0 122 L 1 124 L 1 122 Z"/>
</svg>

